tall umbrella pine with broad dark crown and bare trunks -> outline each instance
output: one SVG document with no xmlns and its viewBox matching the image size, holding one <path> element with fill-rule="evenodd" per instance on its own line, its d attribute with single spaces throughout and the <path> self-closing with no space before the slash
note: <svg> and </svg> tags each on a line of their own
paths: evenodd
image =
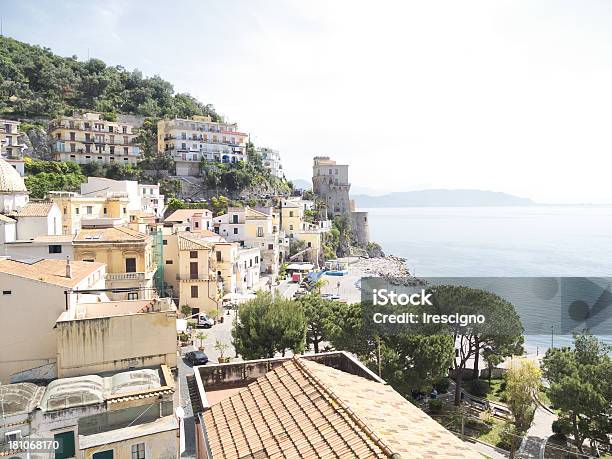
<svg viewBox="0 0 612 459">
<path fill-rule="evenodd" d="M 482 324 L 451 329 L 458 347 L 455 359 L 455 405 L 461 403 L 461 383 L 466 364 L 474 359 L 474 373 L 479 372 L 481 352 L 500 357 L 522 353 L 523 325 L 512 303 L 486 290 L 459 285 L 441 285 L 432 290 L 433 302 L 441 314 L 483 315 Z"/>
</svg>

